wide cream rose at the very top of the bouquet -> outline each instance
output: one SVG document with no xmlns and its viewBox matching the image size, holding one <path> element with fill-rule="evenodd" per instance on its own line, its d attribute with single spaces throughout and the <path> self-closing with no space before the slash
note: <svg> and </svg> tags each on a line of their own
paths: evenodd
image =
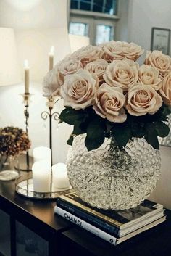
<svg viewBox="0 0 171 256">
<path fill-rule="evenodd" d="M 107 62 L 112 62 L 117 59 L 136 60 L 143 54 L 143 49 L 134 43 L 110 41 L 106 44 L 101 44 L 104 51 L 103 59 Z"/>
</svg>

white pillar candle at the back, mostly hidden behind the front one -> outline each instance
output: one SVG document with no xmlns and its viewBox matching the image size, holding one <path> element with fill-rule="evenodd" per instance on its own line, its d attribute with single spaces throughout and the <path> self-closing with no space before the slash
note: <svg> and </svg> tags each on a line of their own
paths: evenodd
<svg viewBox="0 0 171 256">
<path fill-rule="evenodd" d="M 38 146 L 33 149 L 33 158 L 34 162 L 40 160 L 48 160 L 49 162 L 51 162 L 51 149 L 46 146 Z"/>
</svg>

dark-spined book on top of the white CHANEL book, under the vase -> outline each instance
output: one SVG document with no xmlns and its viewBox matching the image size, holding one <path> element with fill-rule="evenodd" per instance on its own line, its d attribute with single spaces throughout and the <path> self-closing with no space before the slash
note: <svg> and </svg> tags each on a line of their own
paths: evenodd
<svg viewBox="0 0 171 256">
<path fill-rule="evenodd" d="M 116 237 L 128 235 L 149 223 L 161 218 L 163 221 L 165 218 L 163 206 L 149 200 L 130 210 L 102 210 L 86 204 L 75 192 L 59 196 L 57 207 Z"/>
</svg>

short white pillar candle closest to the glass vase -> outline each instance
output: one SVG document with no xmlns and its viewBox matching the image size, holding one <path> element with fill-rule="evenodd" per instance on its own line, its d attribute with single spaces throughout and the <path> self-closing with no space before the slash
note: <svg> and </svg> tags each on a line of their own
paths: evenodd
<svg viewBox="0 0 171 256">
<path fill-rule="evenodd" d="M 64 189 L 70 186 L 70 181 L 67 177 L 67 167 L 63 163 L 58 163 L 52 166 L 52 190 Z"/>
</svg>

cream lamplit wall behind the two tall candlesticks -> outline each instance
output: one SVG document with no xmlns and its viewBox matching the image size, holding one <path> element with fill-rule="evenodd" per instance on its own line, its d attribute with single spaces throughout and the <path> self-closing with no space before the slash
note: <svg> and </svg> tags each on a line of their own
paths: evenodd
<svg viewBox="0 0 171 256">
<path fill-rule="evenodd" d="M 67 0 L 3 0 L 0 1 L 0 27 L 14 28 L 21 73 L 23 62 L 30 64 L 29 136 L 32 149 L 35 146 L 49 146 L 49 123 L 43 129 L 41 112 L 48 110 L 46 99 L 42 96 L 42 80 L 49 69 L 48 52 L 55 47 L 54 62 L 58 62 L 70 53 L 67 34 Z M 14 125 L 25 128 L 24 106 L 22 96 L 23 83 L 15 86 L 0 87 L 0 126 Z M 62 102 L 57 103 L 57 112 L 62 110 Z M 67 137 L 71 127 L 53 122 L 53 159 L 65 162 L 67 154 Z M 30 150 L 32 154 L 32 150 Z"/>
</svg>

